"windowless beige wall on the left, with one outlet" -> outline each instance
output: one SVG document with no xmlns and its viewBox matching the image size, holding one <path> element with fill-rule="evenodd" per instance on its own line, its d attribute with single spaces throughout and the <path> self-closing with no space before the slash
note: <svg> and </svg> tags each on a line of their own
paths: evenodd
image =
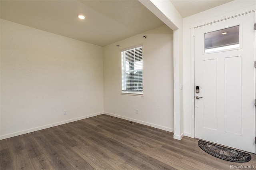
<svg viewBox="0 0 256 170">
<path fill-rule="evenodd" d="M 103 112 L 103 47 L 0 24 L 1 139 Z"/>
</svg>

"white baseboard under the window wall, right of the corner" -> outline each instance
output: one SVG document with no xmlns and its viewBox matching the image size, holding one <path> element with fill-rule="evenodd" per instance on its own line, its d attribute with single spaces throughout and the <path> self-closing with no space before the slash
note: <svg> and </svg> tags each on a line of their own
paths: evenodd
<svg viewBox="0 0 256 170">
<path fill-rule="evenodd" d="M 128 117 L 124 117 L 124 116 L 120 116 L 120 115 L 115 115 L 113 113 L 104 112 L 104 114 L 109 115 L 109 116 L 113 116 L 113 117 L 117 117 L 117 118 L 120 118 L 120 119 L 125 119 L 127 121 L 140 123 L 142 125 L 147 125 L 147 126 L 150 126 L 150 127 L 159 128 L 159 129 L 162 129 L 162 130 L 166 130 L 168 132 L 174 132 L 173 128 L 163 127 L 163 126 L 160 126 L 160 125 L 155 125 L 153 123 L 148 123 L 148 122 L 144 122 L 144 121 L 139 121 L 137 119 L 132 119 L 132 118 L 128 118 Z"/>
</svg>

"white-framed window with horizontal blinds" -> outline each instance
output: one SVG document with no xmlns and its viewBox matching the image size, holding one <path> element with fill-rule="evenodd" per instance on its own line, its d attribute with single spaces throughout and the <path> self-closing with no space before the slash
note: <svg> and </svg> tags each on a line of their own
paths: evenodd
<svg viewBox="0 0 256 170">
<path fill-rule="evenodd" d="M 121 52 L 122 92 L 142 94 L 142 46 Z"/>
</svg>

